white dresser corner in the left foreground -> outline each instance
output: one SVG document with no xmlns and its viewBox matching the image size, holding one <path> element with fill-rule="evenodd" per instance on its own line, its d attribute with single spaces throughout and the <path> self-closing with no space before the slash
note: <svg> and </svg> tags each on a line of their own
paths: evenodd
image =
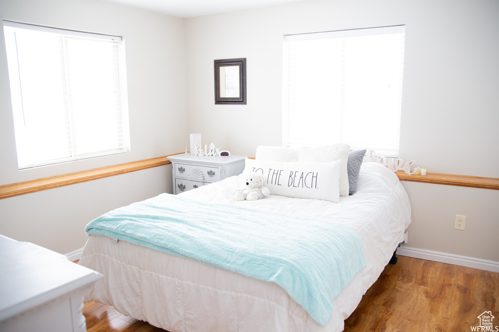
<svg viewBox="0 0 499 332">
<path fill-rule="evenodd" d="M 101 274 L 0 235 L 0 331 L 84 332 L 83 294 Z"/>
</svg>

